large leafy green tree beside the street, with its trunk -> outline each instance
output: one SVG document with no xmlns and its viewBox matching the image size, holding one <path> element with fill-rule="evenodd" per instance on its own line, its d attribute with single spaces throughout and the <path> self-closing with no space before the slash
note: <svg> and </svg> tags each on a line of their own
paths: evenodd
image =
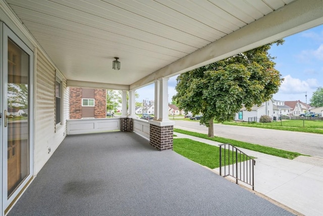
<svg viewBox="0 0 323 216">
<path fill-rule="evenodd" d="M 268 50 L 283 42 L 278 40 L 179 75 L 173 101 L 180 109 L 203 114 L 200 123 L 213 137 L 213 119 L 233 120 L 242 106 L 250 110 L 278 92 L 283 79 Z"/>
</svg>

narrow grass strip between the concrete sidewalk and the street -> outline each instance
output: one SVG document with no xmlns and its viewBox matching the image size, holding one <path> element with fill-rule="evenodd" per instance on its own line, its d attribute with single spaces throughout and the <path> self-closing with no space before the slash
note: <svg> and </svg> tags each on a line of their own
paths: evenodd
<svg viewBox="0 0 323 216">
<path fill-rule="evenodd" d="M 231 145 L 233 145 L 235 147 L 249 149 L 249 150 L 252 150 L 252 151 L 261 152 L 261 153 L 265 153 L 265 154 L 270 154 L 270 155 L 274 155 L 274 156 L 282 157 L 282 158 L 287 158 L 287 159 L 291 159 L 291 160 L 294 159 L 295 157 L 303 155 L 303 154 L 300 154 L 300 153 L 297 153 L 297 152 L 290 152 L 290 151 L 286 151 L 286 150 L 275 149 L 275 148 L 272 148 L 272 147 L 261 146 L 261 145 L 257 145 L 257 144 L 251 144 L 251 143 L 246 143 L 246 142 L 242 142 L 242 141 L 222 138 L 222 137 L 210 138 L 210 137 L 207 137 L 206 134 L 200 134 L 200 133 L 196 133 L 196 132 L 185 131 L 183 129 L 178 129 L 178 128 L 174 128 L 174 132 L 181 133 L 181 134 L 186 134 L 186 135 L 190 135 L 190 136 L 194 136 L 194 137 L 204 138 L 204 139 L 216 141 L 216 142 L 219 142 L 219 143 L 230 143 Z M 175 140 L 176 139 L 174 139 L 174 141 Z"/>
</svg>

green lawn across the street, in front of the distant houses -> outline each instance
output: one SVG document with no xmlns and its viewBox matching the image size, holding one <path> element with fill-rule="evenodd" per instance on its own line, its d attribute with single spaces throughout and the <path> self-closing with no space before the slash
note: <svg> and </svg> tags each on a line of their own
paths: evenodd
<svg viewBox="0 0 323 216">
<path fill-rule="evenodd" d="M 281 131 L 323 134 L 323 121 L 283 120 L 283 121 L 273 121 L 271 123 L 248 123 L 248 122 L 230 121 L 230 122 L 223 122 L 223 124 L 247 126 L 247 127 L 260 127 L 260 128 L 267 128 L 267 129 L 278 129 Z"/>
</svg>

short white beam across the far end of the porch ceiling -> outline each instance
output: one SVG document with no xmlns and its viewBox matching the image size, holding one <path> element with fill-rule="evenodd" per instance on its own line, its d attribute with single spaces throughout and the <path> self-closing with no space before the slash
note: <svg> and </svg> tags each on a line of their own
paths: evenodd
<svg viewBox="0 0 323 216">
<path fill-rule="evenodd" d="M 111 90 L 128 90 L 129 85 L 102 83 L 102 82 L 86 82 L 78 80 L 67 80 L 68 87 L 92 88 L 92 89 L 111 89 Z"/>
</svg>

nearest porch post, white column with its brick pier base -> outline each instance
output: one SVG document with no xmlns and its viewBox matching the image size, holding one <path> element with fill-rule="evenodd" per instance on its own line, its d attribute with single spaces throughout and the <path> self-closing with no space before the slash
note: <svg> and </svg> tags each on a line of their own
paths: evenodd
<svg viewBox="0 0 323 216">
<path fill-rule="evenodd" d="M 174 121 L 168 118 L 168 79 L 155 80 L 155 117 L 149 120 L 149 143 L 159 151 L 173 149 Z"/>
</svg>

